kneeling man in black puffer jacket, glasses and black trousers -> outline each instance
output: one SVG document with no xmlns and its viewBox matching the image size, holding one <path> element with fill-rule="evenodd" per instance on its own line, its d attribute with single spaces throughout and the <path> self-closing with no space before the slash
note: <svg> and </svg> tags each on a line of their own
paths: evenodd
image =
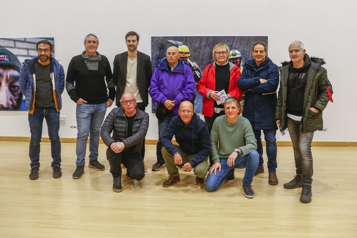
<svg viewBox="0 0 357 238">
<path fill-rule="evenodd" d="M 127 168 L 127 179 L 140 181 L 145 176 L 141 145 L 149 128 L 149 115 L 137 109 L 134 95 L 124 93 L 121 99 L 122 107 L 114 108 L 100 129 L 100 137 L 108 146 L 113 191 L 117 193 L 122 191 L 121 163 Z"/>
</svg>

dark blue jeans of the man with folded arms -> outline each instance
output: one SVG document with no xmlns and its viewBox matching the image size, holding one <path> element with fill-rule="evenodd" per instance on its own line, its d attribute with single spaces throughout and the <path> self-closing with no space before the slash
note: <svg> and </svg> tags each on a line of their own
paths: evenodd
<svg viewBox="0 0 357 238">
<path fill-rule="evenodd" d="M 257 140 L 257 152 L 259 153 L 259 168 L 263 168 L 264 160 L 263 160 L 263 145 L 262 145 L 262 131 L 261 130 L 253 130 L 255 139 Z M 264 140 L 266 142 L 266 152 L 268 157 L 268 171 L 269 173 L 276 173 L 276 168 L 278 164 L 276 162 L 276 130 L 263 130 Z"/>
</svg>

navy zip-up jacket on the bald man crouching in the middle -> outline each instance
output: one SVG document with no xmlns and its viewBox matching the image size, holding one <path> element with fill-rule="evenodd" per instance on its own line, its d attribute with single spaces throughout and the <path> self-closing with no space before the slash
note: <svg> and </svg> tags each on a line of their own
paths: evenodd
<svg viewBox="0 0 357 238">
<path fill-rule="evenodd" d="M 178 152 L 177 148 L 171 142 L 174 135 L 176 142 L 186 155 L 196 155 L 190 161 L 192 167 L 201 163 L 211 151 L 211 141 L 210 134 L 208 133 L 208 127 L 195 112 L 193 113 L 192 120 L 188 125 L 183 123 L 180 115 L 172 117 L 165 135 L 161 138 L 162 145 L 171 155 Z"/>
</svg>

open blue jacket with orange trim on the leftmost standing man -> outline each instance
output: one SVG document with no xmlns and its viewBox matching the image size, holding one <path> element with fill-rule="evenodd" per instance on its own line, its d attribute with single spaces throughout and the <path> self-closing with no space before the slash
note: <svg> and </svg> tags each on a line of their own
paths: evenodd
<svg viewBox="0 0 357 238">
<path fill-rule="evenodd" d="M 30 114 L 32 114 L 35 110 L 35 99 L 36 99 L 36 77 L 35 74 L 35 62 L 39 57 L 36 56 L 31 60 L 25 60 L 24 64 L 20 69 L 20 91 L 26 98 L 26 109 Z M 51 79 L 54 80 L 52 82 L 53 87 L 53 97 L 55 101 L 55 107 L 57 112 L 59 112 L 62 108 L 62 98 L 61 94 L 65 88 L 65 72 L 63 70 L 62 65 L 55 59 L 50 58 L 51 64 Z"/>
</svg>

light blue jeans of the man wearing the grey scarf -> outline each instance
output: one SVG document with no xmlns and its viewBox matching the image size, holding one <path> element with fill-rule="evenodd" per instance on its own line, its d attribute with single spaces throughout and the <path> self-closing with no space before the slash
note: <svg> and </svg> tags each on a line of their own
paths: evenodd
<svg viewBox="0 0 357 238">
<path fill-rule="evenodd" d="M 89 161 L 98 158 L 100 127 L 103 123 L 107 105 L 86 104 L 77 105 L 77 143 L 76 143 L 76 165 L 85 166 L 87 140 L 89 136 Z"/>
</svg>

